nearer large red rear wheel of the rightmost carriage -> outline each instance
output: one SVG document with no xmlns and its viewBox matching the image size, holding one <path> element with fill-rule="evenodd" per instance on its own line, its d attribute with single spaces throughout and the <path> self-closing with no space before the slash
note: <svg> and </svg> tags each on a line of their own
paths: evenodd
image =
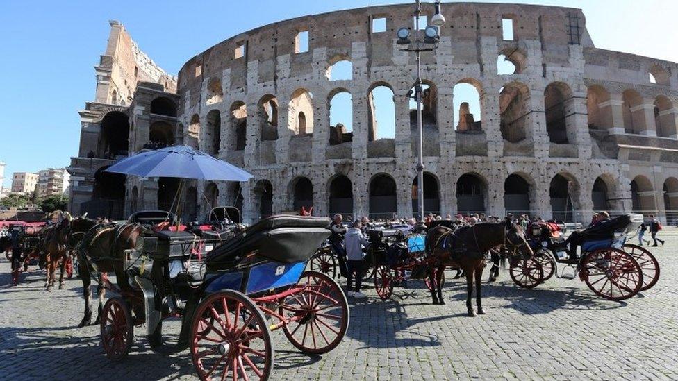
<svg viewBox="0 0 678 381">
<path fill-rule="evenodd" d="M 616 248 L 592 251 L 581 262 L 581 278 L 607 300 L 625 300 L 643 287 L 643 270 L 634 257 Z"/>
</svg>

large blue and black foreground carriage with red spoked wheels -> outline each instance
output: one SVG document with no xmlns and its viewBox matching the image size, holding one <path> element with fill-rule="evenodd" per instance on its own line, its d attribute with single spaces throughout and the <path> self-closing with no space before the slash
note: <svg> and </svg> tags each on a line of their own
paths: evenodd
<svg viewBox="0 0 678 381">
<path fill-rule="evenodd" d="M 304 271 L 329 237 L 329 221 L 277 216 L 233 232 L 212 250 L 190 232 L 144 232 L 126 251 L 120 296 L 102 312 L 106 355 L 129 352 L 133 328 L 146 324 L 160 344 L 162 320 L 182 316 L 179 346 L 189 346 L 202 379 L 266 379 L 273 367 L 270 332 L 282 329 L 304 353 L 332 350 L 344 337 L 349 311 L 335 280 Z"/>
</svg>

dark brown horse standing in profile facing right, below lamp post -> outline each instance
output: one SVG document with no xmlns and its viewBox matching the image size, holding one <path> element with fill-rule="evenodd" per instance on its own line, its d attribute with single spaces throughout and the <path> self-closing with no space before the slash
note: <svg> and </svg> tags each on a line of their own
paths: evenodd
<svg viewBox="0 0 678 381">
<path fill-rule="evenodd" d="M 485 253 L 490 248 L 505 245 L 512 255 L 534 255 L 525 240 L 522 228 L 508 219 L 499 223 L 477 223 L 474 226 L 452 230 L 436 226 L 429 230 L 424 245 L 427 257 L 434 258 L 429 266 L 430 279 L 436 279 L 431 287 L 433 304 L 445 304 L 443 299 L 443 272 L 445 267 L 462 269 L 466 276 L 466 307 L 468 316 L 476 316 L 471 304 L 473 280 L 476 282 L 478 314 L 485 314 L 481 302 L 481 280 L 485 269 Z"/>
</svg>

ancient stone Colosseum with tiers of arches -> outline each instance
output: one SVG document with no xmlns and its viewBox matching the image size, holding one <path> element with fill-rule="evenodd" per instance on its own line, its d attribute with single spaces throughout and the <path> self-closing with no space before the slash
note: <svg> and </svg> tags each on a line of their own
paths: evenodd
<svg viewBox="0 0 678 381">
<path fill-rule="evenodd" d="M 238 205 L 245 221 L 311 205 L 315 215 L 415 214 L 415 56 L 395 36 L 412 26 L 412 10 L 261 26 L 190 58 L 178 78 L 111 22 L 69 169 L 72 210 L 121 218 L 167 208 L 178 180 L 101 169 L 149 144 L 190 144 L 254 179 L 183 187 L 188 218 L 217 204 Z M 426 212 L 678 218 L 675 62 L 597 49 L 579 9 L 445 3 L 443 15 L 438 49 L 422 55 Z M 336 65 L 349 75 L 333 78 Z M 476 99 L 460 105 L 458 86 Z M 333 99 L 346 93 L 352 105 L 332 125 Z M 395 113 L 386 119 L 395 126 L 379 123 L 377 105 Z"/>
</svg>

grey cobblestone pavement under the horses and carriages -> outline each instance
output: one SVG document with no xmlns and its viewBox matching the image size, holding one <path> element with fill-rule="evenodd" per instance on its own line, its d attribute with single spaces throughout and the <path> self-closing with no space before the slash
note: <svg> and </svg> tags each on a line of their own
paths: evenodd
<svg viewBox="0 0 678 381">
<path fill-rule="evenodd" d="M 579 280 L 519 289 L 508 273 L 484 285 L 485 316 L 465 316 L 465 286 L 445 285 L 447 305 L 431 305 L 420 281 L 383 303 L 372 287 L 352 301 L 343 343 L 322 357 L 299 353 L 274 332 L 275 380 L 444 380 L 467 378 L 678 379 L 678 235 L 654 248 L 659 283 L 623 303 L 598 298 Z M 0 379 L 156 380 L 194 378 L 188 351 L 153 353 L 142 333 L 124 362 L 110 362 L 99 328 L 82 317 L 79 280 L 43 291 L 42 271 L 7 287 L 0 262 Z M 178 322 L 165 325 L 174 333 Z"/>
</svg>

